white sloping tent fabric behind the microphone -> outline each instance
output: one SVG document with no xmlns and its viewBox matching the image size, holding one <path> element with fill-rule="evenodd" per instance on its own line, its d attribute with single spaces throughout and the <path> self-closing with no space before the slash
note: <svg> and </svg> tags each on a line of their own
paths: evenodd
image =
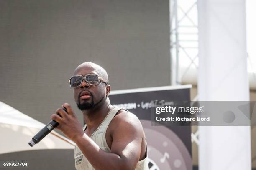
<svg viewBox="0 0 256 170">
<path fill-rule="evenodd" d="M 0 154 L 25 150 L 74 149 L 74 142 L 51 131 L 40 143 L 28 145 L 31 138 L 45 125 L 0 102 Z"/>
</svg>

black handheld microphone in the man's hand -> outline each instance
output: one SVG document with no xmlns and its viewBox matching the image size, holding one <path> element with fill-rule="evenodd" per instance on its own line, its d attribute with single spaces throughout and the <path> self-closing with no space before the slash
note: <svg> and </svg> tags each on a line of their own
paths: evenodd
<svg viewBox="0 0 256 170">
<path fill-rule="evenodd" d="M 64 107 L 62 108 L 63 110 L 65 110 L 65 112 L 67 112 L 67 109 Z M 60 115 L 59 115 L 60 116 Z M 54 128 L 56 128 L 59 125 L 58 122 L 56 122 L 55 120 L 51 120 L 51 122 L 49 122 L 47 125 L 45 125 L 45 127 L 43 129 L 41 129 L 33 138 L 32 140 L 28 143 L 29 146 L 33 146 L 36 143 L 39 143 L 40 140 L 42 140 L 46 135 L 48 135 L 48 133 L 50 133 Z"/>
</svg>

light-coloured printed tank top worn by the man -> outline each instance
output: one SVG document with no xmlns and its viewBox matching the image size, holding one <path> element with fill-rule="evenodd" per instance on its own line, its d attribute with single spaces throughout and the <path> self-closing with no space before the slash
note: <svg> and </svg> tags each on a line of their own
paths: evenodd
<svg viewBox="0 0 256 170">
<path fill-rule="evenodd" d="M 105 119 L 102 121 L 100 126 L 95 130 L 95 132 L 90 137 L 99 147 L 104 150 L 105 152 L 110 153 L 110 148 L 106 142 L 106 131 L 108 128 L 109 123 L 113 119 L 113 117 L 119 112 L 119 110 L 125 110 L 121 107 L 113 107 L 109 112 Z M 83 130 L 85 130 L 86 124 L 84 125 Z M 95 170 L 87 158 L 84 156 L 82 151 L 75 145 L 74 148 L 74 159 L 75 159 L 75 166 L 77 170 Z M 138 161 L 135 170 L 148 170 L 148 154 L 146 149 L 146 158 L 143 160 Z"/>
</svg>

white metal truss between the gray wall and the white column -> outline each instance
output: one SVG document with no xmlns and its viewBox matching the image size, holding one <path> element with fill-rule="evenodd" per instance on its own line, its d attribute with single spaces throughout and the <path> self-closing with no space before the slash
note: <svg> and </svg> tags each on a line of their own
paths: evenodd
<svg viewBox="0 0 256 170">
<path fill-rule="evenodd" d="M 171 85 L 180 85 L 192 66 L 198 69 L 197 0 L 169 0 L 169 7 Z"/>
</svg>

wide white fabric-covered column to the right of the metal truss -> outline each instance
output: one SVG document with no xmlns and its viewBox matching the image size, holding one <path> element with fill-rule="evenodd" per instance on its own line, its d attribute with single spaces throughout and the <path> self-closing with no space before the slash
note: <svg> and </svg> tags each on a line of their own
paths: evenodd
<svg viewBox="0 0 256 170">
<path fill-rule="evenodd" d="M 245 0 L 198 0 L 199 100 L 249 100 Z M 250 126 L 199 126 L 200 170 L 251 170 Z"/>
</svg>

